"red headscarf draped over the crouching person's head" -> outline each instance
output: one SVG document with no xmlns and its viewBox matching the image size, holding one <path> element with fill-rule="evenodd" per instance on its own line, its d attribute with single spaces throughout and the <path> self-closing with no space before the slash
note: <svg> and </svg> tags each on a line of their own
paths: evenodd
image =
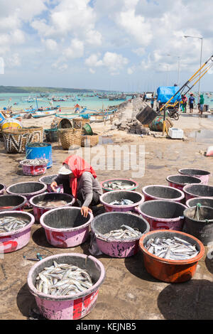
<svg viewBox="0 0 213 334">
<path fill-rule="evenodd" d="M 94 178 L 97 178 L 97 175 L 92 166 L 90 166 L 89 163 L 84 161 L 84 159 L 82 159 L 80 156 L 69 156 L 63 162 L 63 165 L 65 163 L 67 163 L 75 176 L 75 178 L 70 179 L 70 188 L 72 189 L 72 195 L 77 198 L 77 179 L 82 176 L 82 173 L 89 172 L 92 174 L 92 176 L 94 176 Z"/>
</svg>

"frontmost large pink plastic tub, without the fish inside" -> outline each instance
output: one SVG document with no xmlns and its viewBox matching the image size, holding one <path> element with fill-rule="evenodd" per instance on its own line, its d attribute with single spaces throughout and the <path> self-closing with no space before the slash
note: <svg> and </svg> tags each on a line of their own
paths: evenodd
<svg viewBox="0 0 213 334">
<path fill-rule="evenodd" d="M 46 266 L 52 266 L 55 262 L 73 264 L 82 269 L 86 269 L 94 285 L 82 293 L 75 296 L 52 296 L 39 292 L 35 288 L 36 276 L 43 271 Z M 97 303 L 99 287 L 105 279 L 105 269 L 98 259 L 77 253 L 57 254 L 46 257 L 32 266 L 28 273 L 28 288 L 35 296 L 35 301 L 40 313 L 49 320 L 77 320 L 87 316 Z"/>
</svg>

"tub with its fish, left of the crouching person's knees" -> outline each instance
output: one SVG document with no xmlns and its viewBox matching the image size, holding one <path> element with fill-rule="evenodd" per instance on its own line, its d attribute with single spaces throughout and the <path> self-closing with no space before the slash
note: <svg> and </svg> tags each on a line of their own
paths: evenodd
<svg viewBox="0 0 213 334">
<path fill-rule="evenodd" d="M 35 222 L 40 222 L 40 217 L 43 213 L 62 208 L 67 205 L 73 205 L 75 198 L 72 195 L 64 193 L 45 193 L 41 195 L 35 195 L 30 199 L 30 204 L 33 207 L 33 214 Z"/>
</svg>

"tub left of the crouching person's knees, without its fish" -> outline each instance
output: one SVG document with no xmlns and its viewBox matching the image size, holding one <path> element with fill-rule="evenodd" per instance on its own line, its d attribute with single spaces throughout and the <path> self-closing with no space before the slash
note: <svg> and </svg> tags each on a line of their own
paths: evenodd
<svg viewBox="0 0 213 334">
<path fill-rule="evenodd" d="M 68 194 L 60 194 L 60 193 L 45 193 L 41 195 L 35 195 L 30 199 L 30 204 L 33 207 L 33 214 L 35 217 L 35 222 L 40 222 L 40 216 L 43 215 L 43 213 L 55 209 L 55 207 L 43 207 L 41 205 L 38 205 L 38 202 L 40 200 L 65 200 L 67 202 L 66 205 L 62 205 L 62 207 L 67 205 L 73 205 L 75 203 L 75 198 L 72 195 Z M 59 208 L 62 208 L 59 207 Z"/>
</svg>

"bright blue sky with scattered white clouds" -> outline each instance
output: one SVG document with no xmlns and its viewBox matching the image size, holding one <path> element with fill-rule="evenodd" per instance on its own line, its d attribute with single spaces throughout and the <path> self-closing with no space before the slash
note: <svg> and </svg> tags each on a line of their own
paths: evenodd
<svg viewBox="0 0 213 334">
<path fill-rule="evenodd" d="M 213 55 L 212 13 L 212 0 L 0 0 L 0 85 L 153 91 L 178 83 L 178 59 L 182 85 L 201 52 L 185 35 Z"/>
</svg>

